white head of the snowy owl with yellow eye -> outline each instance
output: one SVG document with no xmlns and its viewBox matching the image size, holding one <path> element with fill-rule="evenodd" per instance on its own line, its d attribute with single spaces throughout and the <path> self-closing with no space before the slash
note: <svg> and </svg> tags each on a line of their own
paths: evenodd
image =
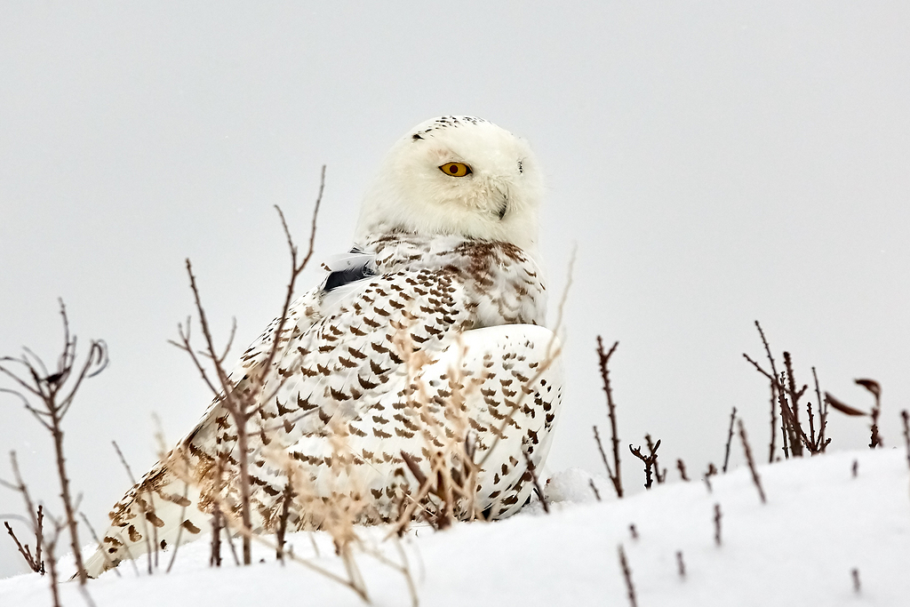
<svg viewBox="0 0 910 607">
<path fill-rule="evenodd" d="M 357 238 L 399 229 L 500 240 L 532 251 L 542 183 L 531 147 L 486 120 L 433 118 L 389 150 Z"/>
</svg>

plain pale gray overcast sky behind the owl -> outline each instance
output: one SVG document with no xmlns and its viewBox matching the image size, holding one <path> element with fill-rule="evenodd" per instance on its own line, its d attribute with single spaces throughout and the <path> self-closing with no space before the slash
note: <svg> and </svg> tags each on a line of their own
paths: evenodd
<svg viewBox="0 0 910 607">
<path fill-rule="evenodd" d="M 723 459 L 736 405 L 764 453 L 767 388 L 743 361 L 761 319 L 802 377 L 867 406 L 885 444 L 910 405 L 910 10 L 905 2 L 78 3 L 0 5 L 0 352 L 59 347 L 56 298 L 111 365 L 66 420 L 83 510 L 101 526 L 209 395 L 167 345 L 192 311 L 243 348 L 277 312 L 287 252 L 329 166 L 318 255 L 349 246 L 385 150 L 430 116 L 527 137 L 549 185 L 542 252 L 567 313 L 551 467 L 602 470 L 593 354 L 620 339 L 624 442 L 665 464 Z M 302 278 L 318 280 L 313 269 Z M 555 305 L 552 306 L 555 311 Z M 555 316 L 554 314 L 552 316 Z M 19 453 L 56 511 L 50 440 L 0 401 L 0 476 Z M 833 448 L 862 447 L 834 419 Z M 734 461 L 741 460 L 739 449 Z M 629 488 L 642 473 L 625 452 Z M 676 478 L 674 470 L 670 472 Z M 773 496 L 772 496 L 773 499 Z M 0 492 L 0 513 L 21 511 Z M 87 541 L 87 537 L 86 537 Z M 23 571 L 0 538 L 0 575 Z"/>
</svg>

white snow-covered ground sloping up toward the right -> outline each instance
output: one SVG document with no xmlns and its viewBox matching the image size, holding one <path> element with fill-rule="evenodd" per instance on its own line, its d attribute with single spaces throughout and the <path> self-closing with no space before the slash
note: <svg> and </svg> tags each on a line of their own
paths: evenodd
<svg viewBox="0 0 910 607">
<path fill-rule="evenodd" d="M 906 457 L 903 449 L 863 450 L 762 466 L 766 504 L 744 467 L 714 477 L 713 491 L 703 481 L 674 481 L 620 501 L 598 478 L 602 502 L 593 501 L 586 472 L 566 470 L 547 490 L 561 500 L 549 515 L 538 506 L 493 524 L 420 529 L 402 547 L 420 604 L 434 607 L 627 605 L 621 544 L 642 607 L 910 605 Z M 714 539 L 715 504 L 722 513 L 721 545 Z M 361 535 L 368 541 L 382 538 L 376 529 Z M 319 534 L 313 539 L 321 548 L 314 560 L 342 571 L 329 539 Z M 308 534 L 295 534 L 291 541 L 298 555 L 314 554 Z M 388 559 L 401 561 L 392 542 L 378 545 Z M 181 547 L 166 574 L 169 556 L 162 555 L 161 572 L 151 576 L 137 575 L 123 563 L 121 577 L 108 572 L 90 582 L 96 605 L 363 604 L 348 588 L 303 565 L 282 566 L 264 547 L 257 557 L 265 562 L 248 568 L 235 567 L 228 557 L 226 566 L 210 569 L 206 541 Z M 373 604 L 410 604 L 400 572 L 366 554 L 357 562 Z M 140 571 L 145 561 L 141 565 Z M 85 604 L 75 582 L 64 583 L 62 592 L 65 605 Z M 0 580 L 3 607 L 49 604 L 46 579 L 37 574 Z"/>
</svg>

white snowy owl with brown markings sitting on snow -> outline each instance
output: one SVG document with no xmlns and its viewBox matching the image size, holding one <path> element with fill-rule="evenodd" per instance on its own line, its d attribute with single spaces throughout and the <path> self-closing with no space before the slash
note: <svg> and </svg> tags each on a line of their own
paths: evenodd
<svg viewBox="0 0 910 607">
<path fill-rule="evenodd" d="M 264 374 L 246 425 L 253 531 L 281 516 L 319 529 L 326 504 L 364 524 L 397 521 L 410 501 L 431 512 L 440 495 L 421 483 L 458 454 L 476 492 L 449 504 L 455 518 L 506 517 L 530 499 L 528 461 L 550 449 L 562 383 L 559 344 L 541 326 L 541 192 L 531 148 L 486 120 L 435 118 L 395 143 L 354 248 L 291 305 L 271 367 L 260 365 L 276 322 L 230 375 L 243 389 Z M 116 503 L 89 575 L 200 537 L 216 507 L 236 530 L 237 441 L 216 399 Z"/>
</svg>

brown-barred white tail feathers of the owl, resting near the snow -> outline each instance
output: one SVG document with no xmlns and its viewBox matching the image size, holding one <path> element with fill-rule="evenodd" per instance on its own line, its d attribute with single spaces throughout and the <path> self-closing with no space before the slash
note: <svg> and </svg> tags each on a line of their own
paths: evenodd
<svg viewBox="0 0 910 607">
<path fill-rule="evenodd" d="M 101 546 L 86 560 L 86 573 L 96 578 L 121 561 L 150 554 L 150 567 L 161 564 L 157 552 L 193 541 L 211 529 L 211 517 L 200 511 L 199 493 L 156 467 L 131 489 L 110 513 L 112 521 Z M 169 560 L 169 557 L 168 557 Z"/>
</svg>

